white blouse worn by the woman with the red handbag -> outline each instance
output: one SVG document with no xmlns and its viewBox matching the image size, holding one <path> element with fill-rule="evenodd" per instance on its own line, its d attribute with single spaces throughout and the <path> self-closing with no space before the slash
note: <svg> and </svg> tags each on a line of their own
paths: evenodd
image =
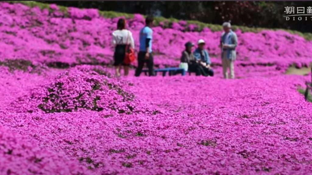
<svg viewBox="0 0 312 175">
<path fill-rule="evenodd" d="M 129 30 L 116 30 L 113 32 L 113 45 L 129 44 L 134 49 L 134 40 Z"/>
</svg>

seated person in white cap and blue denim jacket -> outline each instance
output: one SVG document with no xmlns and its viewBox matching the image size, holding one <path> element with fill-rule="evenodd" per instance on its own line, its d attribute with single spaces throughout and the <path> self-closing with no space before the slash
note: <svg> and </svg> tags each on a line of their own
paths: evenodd
<svg viewBox="0 0 312 175">
<path fill-rule="evenodd" d="M 198 45 L 198 47 L 197 47 L 197 49 L 195 49 L 195 51 L 193 53 L 194 57 L 197 60 L 197 62 L 200 63 L 201 68 L 204 71 L 203 75 L 204 76 L 209 75 L 212 77 L 214 73 L 210 67 L 211 62 L 210 62 L 209 54 L 208 54 L 207 50 L 204 49 L 205 41 L 200 39 L 200 40 L 198 40 L 197 45 Z"/>
</svg>

